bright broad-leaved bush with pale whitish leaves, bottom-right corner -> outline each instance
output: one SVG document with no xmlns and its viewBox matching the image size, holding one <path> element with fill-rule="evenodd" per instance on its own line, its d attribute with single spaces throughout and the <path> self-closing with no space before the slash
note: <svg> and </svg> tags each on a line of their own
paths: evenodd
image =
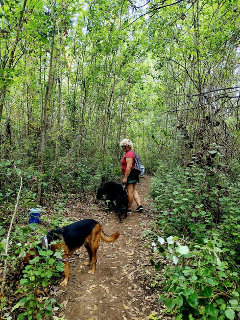
<svg viewBox="0 0 240 320">
<path fill-rule="evenodd" d="M 170 236 L 166 240 L 158 237 L 157 243 L 152 243 L 155 258 L 151 263 L 158 271 L 159 255 L 162 255 L 167 264 L 164 276 L 158 273 L 152 286 L 163 286 L 159 303 L 164 301 L 166 311 L 178 315 L 176 319 L 191 316 L 233 320 L 235 312 L 240 311 L 238 273 L 231 271 L 228 263 L 222 260 L 225 255 L 218 238 L 203 240 L 201 244 L 178 237 Z"/>
</svg>

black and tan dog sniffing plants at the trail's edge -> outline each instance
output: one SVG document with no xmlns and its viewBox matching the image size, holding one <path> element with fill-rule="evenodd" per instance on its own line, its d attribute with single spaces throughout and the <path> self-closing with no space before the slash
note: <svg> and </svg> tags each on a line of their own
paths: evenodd
<svg viewBox="0 0 240 320">
<path fill-rule="evenodd" d="M 114 242 L 119 235 L 120 234 L 118 232 L 115 232 L 111 236 L 107 236 L 99 222 L 92 219 L 85 219 L 71 223 L 62 228 L 57 228 L 56 230 L 51 230 L 41 240 L 40 247 L 45 245 L 53 252 L 57 249 L 64 250 L 63 261 L 65 278 L 60 285 L 65 286 L 69 278 L 68 261 L 66 259 L 70 255 L 84 245 L 88 253 L 88 262 L 84 263 L 84 265 L 89 266 L 92 260 L 92 269 L 89 270 L 88 273 L 93 275 L 97 264 L 97 250 L 100 245 L 100 240 L 103 240 L 104 242 Z M 56 243 L 58 240 L 59 242 Z M 55 244 L 51 244 L 53 241 Z M 37 249 L 30 249 L 23 258 L 23 264 L 28 265 L 29 260 L 36 257 L 37 254 Z"/>
</svg>

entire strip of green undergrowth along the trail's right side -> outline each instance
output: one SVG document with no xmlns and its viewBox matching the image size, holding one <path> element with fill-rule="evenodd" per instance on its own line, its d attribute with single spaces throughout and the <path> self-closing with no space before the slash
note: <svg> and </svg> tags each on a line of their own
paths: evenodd
<svg viewBox="0 0 240 320">
<path fill-rule="evenodd" d="M 176 320 L 240 316 L 240 182 L 239 168 L 233 169 L 228 175 L 163 163 L 152 181 L 152 286 Z"/>
</svg>

